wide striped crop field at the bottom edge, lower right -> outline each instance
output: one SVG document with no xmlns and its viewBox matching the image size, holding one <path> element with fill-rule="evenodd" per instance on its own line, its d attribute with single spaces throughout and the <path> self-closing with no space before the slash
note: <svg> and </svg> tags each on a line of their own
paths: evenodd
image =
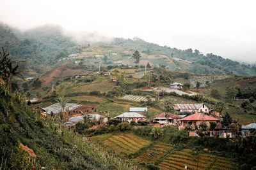
<svg viewBox="0 0 256 170">
<path fill-rule="evenodd" d="M 184 149 L 174 152 L 166 157 L 158 167 L 160 169 L 237 169 L 237 164 L 216 155 L 200 153 L 196 156 L 191 154 L 192 150 Z M 197 168 L 198 167 L 198 168 Z"/>
</svg>

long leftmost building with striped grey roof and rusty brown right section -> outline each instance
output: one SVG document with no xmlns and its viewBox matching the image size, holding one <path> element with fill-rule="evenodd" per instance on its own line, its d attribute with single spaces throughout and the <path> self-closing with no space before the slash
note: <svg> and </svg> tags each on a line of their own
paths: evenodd
<svg viewBox="0 0 256 170">
<path fill-rule="evenodd" d="M 88 105 L 81 105 L 76 103 L 67 103 L 65 106 L 65 111 L 68 111 L 68 116 L 70 115 L 77 115 L 83 113 L 92 113 L 96 111 L 97 104 L 88 104 Z M 60 113 L 62 112 L 62 107 L 60 103 L 52 104 L 46 108 L 43 108 L 44 113 Z"/>
</svg>

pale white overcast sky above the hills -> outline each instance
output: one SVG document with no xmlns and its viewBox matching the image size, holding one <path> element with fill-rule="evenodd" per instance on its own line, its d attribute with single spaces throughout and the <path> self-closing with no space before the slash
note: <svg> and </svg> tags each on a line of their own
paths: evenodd
<svg viewBox="0 0 256 170">
<path fill-rule="evenodd" d="M 256 1 L 0 0 L 0 6 L 0 20 L 21 30 L 54 24 L 256 62 Z"/>
</svg>

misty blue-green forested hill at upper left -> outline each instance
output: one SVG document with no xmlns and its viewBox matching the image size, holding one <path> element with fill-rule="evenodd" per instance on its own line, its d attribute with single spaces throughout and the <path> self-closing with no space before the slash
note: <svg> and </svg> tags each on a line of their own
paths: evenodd
<svg viewBox="0 0 256 170">
<path fill-rule="evenodd" d="M 77 52 L 75 45 L 58 26 L 44 25 L 20 32 L 0 22 L 0 47 L 8 46 L 10 55 L 26 60 L 22 67 L 28 69 L 29 75 L 54 69 L 58 59 Z"/>
</svg>

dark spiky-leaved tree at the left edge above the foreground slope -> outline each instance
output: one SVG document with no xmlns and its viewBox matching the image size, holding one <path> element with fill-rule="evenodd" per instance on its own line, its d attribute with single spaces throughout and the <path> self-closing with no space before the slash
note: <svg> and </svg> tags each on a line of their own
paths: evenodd
<svg viewBox="0 0 256 170">
<path fill-rule="evenodd" d="M 8 47 L 6 50 L 2 47 L 2 51 L 0 52 L 0 81 L 3 80 L 8 88 L 11 89 L 13 76 L 22 76 L 22 69 L 19 69 L 20 61 L 15 60 L 9 57 Z"/>
</svg>

